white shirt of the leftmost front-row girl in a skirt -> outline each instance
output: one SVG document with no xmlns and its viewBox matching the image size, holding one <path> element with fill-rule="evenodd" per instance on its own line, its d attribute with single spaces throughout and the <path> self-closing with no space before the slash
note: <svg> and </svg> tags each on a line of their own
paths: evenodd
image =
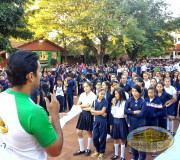
<svg viewBox="0 0 180 160">
<path fill-rule="evenodd" d="M 82 105 L 93 104 L 93 101 L 96 100 L 96 95 L 91 91 L 89 94 L 86 94 L 86 92 L 83 92 L 79 97 L 79 102 L 82 103 Z"/>
</svg>

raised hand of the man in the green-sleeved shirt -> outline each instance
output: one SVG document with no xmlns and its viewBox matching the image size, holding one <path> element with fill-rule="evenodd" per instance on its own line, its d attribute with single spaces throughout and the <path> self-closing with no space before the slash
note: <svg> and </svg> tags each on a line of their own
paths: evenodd
<svg viewBox="0 0 180 160">
<path fill-rule="evenodd" d="M 51 94 L 51 102 L 49 102 L 48 98 L 45 98 L 46 101 L 46 107 L 50 115 L 59 114 L 59 102 L 56 99 L 55 94 Z"/>
</svg>

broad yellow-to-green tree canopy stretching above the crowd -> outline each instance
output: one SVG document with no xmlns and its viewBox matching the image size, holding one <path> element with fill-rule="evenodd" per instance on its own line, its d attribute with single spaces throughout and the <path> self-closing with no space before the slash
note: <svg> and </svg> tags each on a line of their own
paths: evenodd
<svg viewBox="0 0 180 160">
<path fill-rule="evenodd" d="M 88 48 L 103 63 L 105 53 L 116 57 L 163 55 L 173 45 L 173 18 L 163 1 L 154 0 L 41 0 L 27 11 L 36 37 L 55 33 L 56 43 Z M 173 21 L 173 23 L 177 23 Z M 175 26 L 175 25 L 174 25 Z"/>
</svg>

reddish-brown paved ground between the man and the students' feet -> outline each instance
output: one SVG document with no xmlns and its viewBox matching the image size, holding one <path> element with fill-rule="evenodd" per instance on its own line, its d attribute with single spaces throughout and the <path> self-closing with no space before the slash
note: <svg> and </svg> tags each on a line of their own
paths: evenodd
<svg viewBox="0 0 180 160">
<path fill-rule="evenodd" d="M 75 99 L 75 102 L 77 99 Z M 64 146 L 63 151 L 59 157 L 56 158 L 50 158 L 48 157 L 47 160 L 96 160 L 96 158 L 91 158 L 90 156 L 86 157 L 84 155 L 80 156 L 73 156 L 72 154 L 79 150 L 77 135 L 76 135 L 76 124 L 77 124 L 78 116 L 68 122 L 66 126 L 63 128 L 63 135 L 64 135 Z M 176 119 L 175 121 L 175 131 L 177 130 L 177 127 L 179 125 L 179 120 Z M 87 134 L 84 133 L 84 141 L 85 141 L 85 148 L 87 146 Z M 92 143 L 91 147 L 92 151 L 94 151 L 94 146 Z M 120 150 L 119 150 L 120 154 Z M 109 160 L 111 156 L 114 155 L 114 149 L 113 149 L 113 140 L 107 140 L 106 143 L 106 153 L 105 153 L 105 159 Z M 131 160 L 132 154 L 129 153 L 129 147 L 126 147 L 125 150 L 125 158 L 126 160 Z M 153 160 L 154 158 L 151 156 L 151 154 L 147 154 L 146 160 Z"/>
</svg>

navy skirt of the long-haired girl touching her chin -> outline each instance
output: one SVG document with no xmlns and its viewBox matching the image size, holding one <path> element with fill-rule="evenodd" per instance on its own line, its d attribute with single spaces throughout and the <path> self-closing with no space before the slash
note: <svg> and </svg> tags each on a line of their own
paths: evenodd
<svg viewBox="0 0 180 160">
<path fill-rule="evenodd" d="M 112 138 L 126 141 L 128 134 L 129 130 L 125 118 L 114 118 Z"/>
</svg>

